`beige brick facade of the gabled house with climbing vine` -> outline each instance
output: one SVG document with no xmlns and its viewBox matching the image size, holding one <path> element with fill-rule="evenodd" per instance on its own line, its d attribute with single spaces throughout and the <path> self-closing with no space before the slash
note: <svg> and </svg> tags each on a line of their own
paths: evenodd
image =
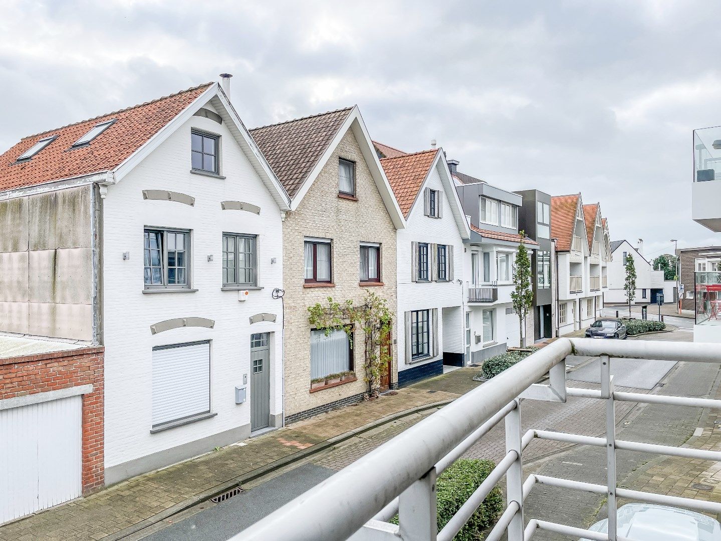
<svg viewBox="0 0 721 541">
<path fill-rule="evenodd" d="M 338 158 L 355 161 L 358 201 L 337 196 Z M 304 237 L 332 240 L 332 280 L 335 287 L 304 287 Z M 384 285 L 363 287 L 358 284 L 361 242 L 381 243 L 381 280 Z M 363 393 L 366 390 L 363 382 L 363 334 L 358 329 L 353 352 L 358 380 L 310 393 L 309 306 L 325 303 L 328 297 L 359 302 L 366 290 L 371 289 L 385 298 L 393 311 L 394 335 L 397 328 L 396 229 L 352 130 L 345 133 L 298 210 L 288 213 L 283 223 L 283 282 L 286 287 L 286 417 Z M 392 381 L 397 381 L 395 352 Z"/>
</svg>

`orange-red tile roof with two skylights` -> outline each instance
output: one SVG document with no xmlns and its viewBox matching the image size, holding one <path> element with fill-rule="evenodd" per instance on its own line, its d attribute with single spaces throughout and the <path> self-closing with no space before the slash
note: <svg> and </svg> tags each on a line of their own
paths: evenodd
<svg viewBox="0 0 721 541">
<path fill-rule="evenodd" d="M 20 140 L 0 156 L 0 192 L 115 169 L 212 84 L 201 84 Z M 71 150 L 76 140 L 107 120 L 115 120 L 115 123 L 89 145 Z M 17 158 L 37 141 L 53 135 L 58 137 L 42 151 L 28 161 L 16 163 Z"/>
</svg>

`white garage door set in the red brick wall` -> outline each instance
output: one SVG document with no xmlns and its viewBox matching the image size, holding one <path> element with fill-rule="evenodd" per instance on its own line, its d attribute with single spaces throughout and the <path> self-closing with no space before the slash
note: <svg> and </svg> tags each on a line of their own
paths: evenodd
<svg viewBox="0 0 721 541">
<path fill-rule="evenodd" d="M 82 397 L 0 411 L 0 524 L 80 496 Z"/>
</svg>

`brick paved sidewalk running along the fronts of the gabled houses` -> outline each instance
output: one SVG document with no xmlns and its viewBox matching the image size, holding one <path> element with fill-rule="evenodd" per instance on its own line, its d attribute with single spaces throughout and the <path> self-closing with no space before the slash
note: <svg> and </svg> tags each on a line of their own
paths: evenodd
<svg viewBox="0 0 721 541">
<path fill-rule="evenodd" d="M 424 388 L 404 388 L 396 395 L 322 413 L 249 439 L 244 444 L 230 445 L 163 470 L 139 475 L 91 496 L 6 524 L 0 527 L 0 540 L 84 541 L 107 536 L 112 536 L 111 540 L 119 539 L 122 537 L 119 532 L 124 529 L 134 525 L 148 526 L 152 517 L 167 514 L 189 498 L 202 497 L 223 483 L 234 482 L 277 460 L 294 454 L 298 458 L 304 457 L 314 450 L 314 446 L 321 448 L 330 438 L 394 413 L 458 398 L 477 385 L 472 382 L 473 373 L 474 369 L 456 370 L 435 378 L 442 383 L 443 390 L 429 388 L 425 382 Z M 447 389 L 457 390 L 453 393 Z M 143 521 L 146 524 L 140 524 Z"/>
</svg>

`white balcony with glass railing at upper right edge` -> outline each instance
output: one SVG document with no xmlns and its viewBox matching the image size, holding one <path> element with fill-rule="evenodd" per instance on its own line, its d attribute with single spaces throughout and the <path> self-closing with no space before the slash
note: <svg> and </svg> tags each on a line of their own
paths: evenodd
<svg viewBox="0 0 721 541">
<path fill-rule="evenodd" d="M 691 218 L 721 231 L 721 126 L 694 130 L 694 184 Z"/>
</svg>

